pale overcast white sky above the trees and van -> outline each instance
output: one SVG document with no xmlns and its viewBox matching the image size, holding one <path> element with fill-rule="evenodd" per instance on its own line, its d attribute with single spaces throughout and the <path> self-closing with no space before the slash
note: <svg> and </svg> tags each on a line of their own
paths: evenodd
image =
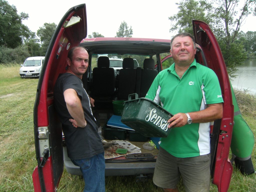
<svg viewBox="0 0 256 192">
<path fill-rule="evenodd" d="M 69 8 L 86 3 L 87 35 L 98 32 L 105 37 L 114 37 L 116 31 L 125 21 L 132 26 L 133 37 L 170 39 L 169 16 L 176 14 L 177 5 L 172 0 L 7 0 L 10 5 L 15 5 L 18 13 L 27 13 L 29 18 L 23 24 L 37 32 L 44 23 L 59 24 L 62 16 Z M 256 31 L 255 16 L 247 18 L 241 30 Z"/>
</svg>

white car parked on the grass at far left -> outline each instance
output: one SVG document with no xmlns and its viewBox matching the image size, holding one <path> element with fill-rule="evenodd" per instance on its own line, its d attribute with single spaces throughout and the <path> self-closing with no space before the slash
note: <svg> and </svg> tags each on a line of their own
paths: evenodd
<svg viewBox="0 0 256 192">
<path fill-rule="evenodd" d="M 39 77 L 45 57 L 28 57 L 19 70 L 20 78 Z"/>
</svg>

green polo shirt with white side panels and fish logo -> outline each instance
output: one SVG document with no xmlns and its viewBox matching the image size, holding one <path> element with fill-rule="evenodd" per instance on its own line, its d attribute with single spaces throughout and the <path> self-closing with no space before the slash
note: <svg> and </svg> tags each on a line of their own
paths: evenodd
<svg viewBox="0 0 256 192">
<path fill-rule="evenodd" d="M 180 79 L 175 64 L 158 73 L 146 98 L 160 104 L 172 114 L 189 113 L 222 103 L 215 72 L 194 60 Z M 175 157 L 194 157 L 210 153 L 210 122 L 191 123 L 172 128 L 160 146 Z"/>
</svg>

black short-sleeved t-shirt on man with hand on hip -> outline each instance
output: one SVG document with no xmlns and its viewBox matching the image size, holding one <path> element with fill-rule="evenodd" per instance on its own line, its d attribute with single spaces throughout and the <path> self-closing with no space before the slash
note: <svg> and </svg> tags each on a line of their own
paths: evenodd
<svg viewBox="0 0 256 192">
<path fill-rule="evenodd" d="M 84 128 L 74 127 L 69 119 L 73 119 L 68 112 L 64 99 L 64 91 L 74 89 L 84 111 L 87 125 Z M 54 87 L 54 105 L 62 123 L 65 135 L 68 157 L 70 159 L 89 158 L 104 151 L 98 134 L 98 125 L 92 115 L 89 97 L 83 88 L 81 79 L 71 73 L 60 74 Z"/>
</svg>

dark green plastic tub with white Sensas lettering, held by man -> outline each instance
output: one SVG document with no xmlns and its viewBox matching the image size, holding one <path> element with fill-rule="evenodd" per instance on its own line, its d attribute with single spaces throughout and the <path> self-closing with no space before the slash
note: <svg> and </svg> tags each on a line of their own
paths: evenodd
<svg viewBox="0 0 256 192">
<path fill-rule="evenodd" d="M 135 95 L 135 99 L 131 99 Z M 167 137 L 168 119 L 173 115 L 147 98 L 129 95 L 124 102 L 121 122 L 146 137 Z"/>
</svg>

